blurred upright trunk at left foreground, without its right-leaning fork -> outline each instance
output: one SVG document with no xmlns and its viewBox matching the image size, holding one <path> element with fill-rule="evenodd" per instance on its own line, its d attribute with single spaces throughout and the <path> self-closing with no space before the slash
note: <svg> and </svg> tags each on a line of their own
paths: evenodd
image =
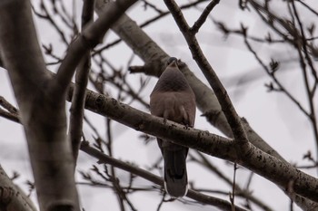
<svg viewBox="0 0 318 211">
<path fill-rule="evenodd" d="M 65 99 L 55 101 L 45 93 L 50 77 L 29 1 L 1 2 L 0 46 L 25 127 L 40 208 L 79 210 L 73 159 L 65 136 Z"/>
</svg>

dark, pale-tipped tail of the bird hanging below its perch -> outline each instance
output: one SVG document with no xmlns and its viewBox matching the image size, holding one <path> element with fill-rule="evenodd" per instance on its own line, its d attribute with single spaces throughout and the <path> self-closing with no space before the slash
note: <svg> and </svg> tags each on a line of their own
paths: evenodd
<svg viewBox="0 0 318 211">
<path fill-rule="evenodd" d="M 188 149 L 164 149 L 164 188 L 171 197 L 184 197 L 188 191 L 185 159 Z"/>
</svg>

